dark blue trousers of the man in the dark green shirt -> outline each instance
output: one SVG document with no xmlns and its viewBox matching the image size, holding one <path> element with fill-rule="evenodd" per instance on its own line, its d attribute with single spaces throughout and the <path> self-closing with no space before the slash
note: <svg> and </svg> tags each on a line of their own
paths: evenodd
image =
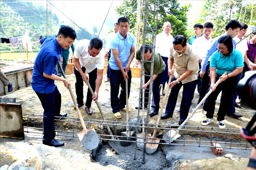
<svg viewBox="0 0 256 170">
<path fill-rule="evenodd" d="M 147 73 L 145 72 L 145 74 L 147 74 Z M 162 78 L 163 78 L 163 73 L 160 73 L 160 74 L 158 74 L 157 78 L 155 78 L 154 82 L 152 83 L 153 97 L 152 97 L 151 110 L 154 110 L 154 111 L 159 111 L 159 102 L 160 102 L 159 86 L 161 84 L 160 82 L 161 82 Z M 150 79 L 149 76 L 145 76 L 145 83 L 147 83 L 149 79 Z M 149 89 L 149 85 L 147 86 L 147 90 L 145 90 L 145 96 L 144 96 L 145 106 L 144 107 L 147 107 L 147 104 L 148 104 L 148 89 Z M 140 102 L 142 102 L 142 99 L 140 100 Z M 142 104 L 141 104 L 141 106 L 142 106 Z"/>
</svg>

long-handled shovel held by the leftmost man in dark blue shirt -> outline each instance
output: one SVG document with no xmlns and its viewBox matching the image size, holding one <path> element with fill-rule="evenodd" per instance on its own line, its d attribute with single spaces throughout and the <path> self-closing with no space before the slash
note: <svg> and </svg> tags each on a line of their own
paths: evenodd
<svg viewBox="0 0 256 170">
<path fill-rule="evenodd" d="M 65 79 L 67 79 L 67 77 L 66 77 L 66 75 L 65 75 L 65 73 L 64 73 L 64 71 L 63 71 L 63 69 L 61 67 L 60 61 L 58 63 L 59 63 L 60 70 L 61 70 L 61 73 L 62 73 L 63 77 Z M 78 112 L 79 119 L 80 119 L 81 124 L 83 126 L 83 130 L 78 132 L 78 133 L 76 133 L 76 134 L 78 135 L 79 140 L 81 141 L 82 145 L 86 149 L 93 150 L 93 149 L 97 148 L 98 145 L 99 145 L 98 135 L 95 132 L 95 129 L 93 127 L 89 128 L 89 129 L 86 128 L 86 126 L 84 124 L 83 117 L 82 117 L 82 115 L 81 115 L 81 113 L 79 111 L 79 108 L 78 108 L 77 104 L 76 104 L 75 97 L 74 97 L 74 94 L 73 94 L 72 89 L 71 89 L 70 86 L 68 86 L 68 90 L 69 90 L 69 92 L 71 94 L 72 100 L 73 100 L 74 105 L 76 107 L 76 111 Z"/>
</svg>

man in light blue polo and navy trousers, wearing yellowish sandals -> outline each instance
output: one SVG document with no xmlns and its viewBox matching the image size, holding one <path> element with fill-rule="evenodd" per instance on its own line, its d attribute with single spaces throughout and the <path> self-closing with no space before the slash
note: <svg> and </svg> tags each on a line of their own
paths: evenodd
<svg viewBox="0 0 256 170">
<path fill-rule="evenodd" d="M 135 55 L 135 37 L 128 33 L 129 20 L 126 17 L 120 17 L 117 23 L 119 32 L 110 44 L 110 100 L 113 115 L 121 119 L 120 110 L 126 111 L 126 109 L 128 109 L 125 108 L 125 80 L 128 79 L 129 96 L 132 79 L 130 64 Z M 127 73 L 125 71 L 127 71 Z M 118 98 L 119 87 L 121 87 L 121 92 Z"/>
</svg>

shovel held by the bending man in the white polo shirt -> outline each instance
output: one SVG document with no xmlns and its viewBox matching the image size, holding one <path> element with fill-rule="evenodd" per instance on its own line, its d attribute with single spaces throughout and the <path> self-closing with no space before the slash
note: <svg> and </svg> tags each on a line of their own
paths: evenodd
<svg viewBox="0 0 256 170">
<path fill-rule="evenodd" d="M 91 85 L 90 85 L 89 81 L 88 81 L 87 79 L 86 79 L 86 81 L 87 81 L 88 87 L 89 87 L 89 89 L 90 89 L 90 91 L 91 91 L 91 94 L 94 96 L 93 89 L 91 88 Z M 94 96 L 94 97 L 95 97 L 95 96 Z M 104 116 L 104 114 L 103 114 L 103 111 L 101 110 L 101 107 L 99 106 L 98 100 L 95 99 L 95 102 L 96 102 L 96 104 L 97 104 L 97 106 L 98 106 L 98 108 L 99 108 L 99 112 L 101 113 L 101 116 L 102 116 L 103 120 L 106 120 L 106 119 L 105 119 L 105 116 Z M 115 140 L 115 138 L 113 137 L 113 134 L 112 134 L 112 132 L 111 132 L 109 126 L 108 126 L 108 125 L 106 125 L 106 126 L 107 126 L 107 129 L 108 129 L 108 131 L 109 131 L 109 134 L 112 135 L 111 138 L 112 138 L 113 140 Z M 116 137 L 116 139 L 119 140 L 117 137 Z M 116 151 L 116 153 L 118 153 L 118 154 L 121 154 L 122 151 L 124 150 L 124 147 L 120 145 L 120 141 L 109 141 L 108 143 L 109 143 L 109 145 L 114 149 L 114 151 Z"/>
</svg>

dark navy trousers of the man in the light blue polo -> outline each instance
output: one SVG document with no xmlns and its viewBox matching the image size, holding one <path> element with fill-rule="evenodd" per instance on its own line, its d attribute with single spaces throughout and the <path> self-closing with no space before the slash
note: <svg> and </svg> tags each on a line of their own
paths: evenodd
<svg viewBox="0 0 256 170">
<path fill-rule="evenodd" d="M 113 113 L 119 112 L 121 108 L 124 108 L 126 105 L 126 87 L 125 87 L 125 80 L 123 78 L 123 74 L 121 70 L 113 70 L 110 69 L 110 100 L 111 100 L 111 107 Z M 131 88 L 131 79 L 132 73 L 131 70 L 128 72 L 128 98 L 130 95 L 130 88 Z M 119 94 L 119 87 L 121 87 L 121 92 Z"/>
</svg>

